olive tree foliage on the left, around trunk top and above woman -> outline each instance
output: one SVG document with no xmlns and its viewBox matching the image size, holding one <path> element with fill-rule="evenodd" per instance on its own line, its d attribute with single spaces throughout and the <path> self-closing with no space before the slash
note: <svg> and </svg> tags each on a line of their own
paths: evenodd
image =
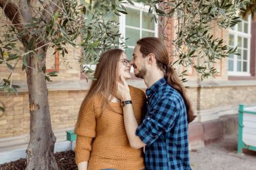
<svg viewBox="0 0 256 170">
<path fill-rule="evenodd" d="M 79 56 L 81 63 L 91 64 L 98 61 L 102 51 L 123 46 L 121 34 L 114 31 L 118 25 L 110 20 L 112 15 L 125 12 L 121 7 L 122 3 L 124 2 L 81 1 L 79 5 L 75 0 L 35 1 L 28 5 L 32 17 L 24 21 L 19 13 L 20 4 L 1 0 L 0 7 L 6 11 L 7 18 L 1 18 L 6 32 L 0 36 L 0 64 L 7 65 L 10 74 L 0 80 L 0 90 L 17 93 L 16 88 L 19 86 L 12 84 L 12 72 L 20 59 L 22 70 L 28 67 L 29 54 L 37 54 L 39 49 L 54 47 L 64 57 L 68 53 L 66 45 L 72 45 L 76 49 L 83 49 L 83 56 Z M 16 15 L 8 16 L 11 7 L 16 9 Z M 20 53 L 18 49 L 20 42 L 24 46 L 24 53 Z M 37 57 L 42 56 L 37 54 Z M 56 72 L 45 72 L 45 63 L 39 72 L 48 81 L 50 76 L 56 76 Z"/>
</svg>

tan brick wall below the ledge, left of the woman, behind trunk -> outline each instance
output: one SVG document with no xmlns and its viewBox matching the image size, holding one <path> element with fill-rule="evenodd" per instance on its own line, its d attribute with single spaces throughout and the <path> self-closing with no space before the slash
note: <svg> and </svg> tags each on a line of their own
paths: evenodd
<svg viewBox="0 0 256 170">
<path fill-rule="evenodd" d="M 87 90 L 49 92 L 51 125 L 54 130 L 74 127 L 86 93 Z M 27 92 L 21 92 L 18 96 L 1 95 L 0 101 L 6 107 L 5 113 L 0 117 L 0 138 L 28 134 L 30 115 Z"/>
</svg>

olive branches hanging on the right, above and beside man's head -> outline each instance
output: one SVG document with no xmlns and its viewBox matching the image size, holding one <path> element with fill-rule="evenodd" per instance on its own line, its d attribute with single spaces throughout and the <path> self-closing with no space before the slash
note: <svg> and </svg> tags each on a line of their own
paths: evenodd
<svg viewBox="0 0 256 170">
<path fill-rule="evenodd" d="M 216 38 L 213 29 L 232 28 L 241 18 L 239 9 L 246 8 L 247 1 L 240 0 L 196 0 L 196 1 L 141 1 L 150 6 L 149 13 L 154 13 L 152 20 L 157 21 L 165 35 L 169 21 L 174 22 L 175 39 L 168 42 L 173 47 L 173 65 L 185 68 L 193 67 L 201 80 L 217 76 L 213 63 L 221 57 L 236 54 L 236 47 L 229 49 L 222 38 Z M 168 41 L 168 40 L 167 40 Z M 185 82 L 187 69 L 180 73 Z"/>
</svg>

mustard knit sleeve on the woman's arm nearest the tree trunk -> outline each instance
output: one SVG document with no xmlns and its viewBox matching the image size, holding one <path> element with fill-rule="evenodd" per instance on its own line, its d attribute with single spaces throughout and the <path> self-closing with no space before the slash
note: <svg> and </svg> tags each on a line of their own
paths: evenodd
<svg viewBox="0 0 256 170">
<path fill-rule="evenodd" d="M 95 126 L 96 118 L 93 100 L 90 99 L 86 103 L 83 101 L 74 130 L 74 133 L 77 134 L 76 147 L 74 149 L 77 164 L 89 161 L 91 143 L 95 138 Z"/>
</svg>

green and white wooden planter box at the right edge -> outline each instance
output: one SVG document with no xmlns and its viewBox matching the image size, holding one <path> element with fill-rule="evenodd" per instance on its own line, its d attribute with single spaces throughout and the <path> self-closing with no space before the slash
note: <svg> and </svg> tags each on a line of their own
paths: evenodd
<svg viewBox="0 0 256 170">
<path fill-rule="evenodd" d="M 238 154 L 243 148 L 256 151 L 256 107 L 239 105 Z"/>
</svg>

